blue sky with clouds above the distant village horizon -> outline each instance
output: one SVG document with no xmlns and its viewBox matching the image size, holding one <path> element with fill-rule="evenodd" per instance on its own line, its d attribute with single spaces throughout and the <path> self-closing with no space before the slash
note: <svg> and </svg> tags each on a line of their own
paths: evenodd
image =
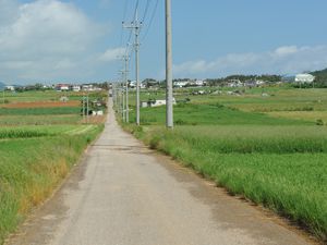
<svg viewBox="0 0 327 245">
<path fill-rule="evenodd" d="M 140 1 L 143 19 L 147 0 Z M 141 34 L 141 77 L 164 78 L 165 1 Z M 136 0 L 0 0 L 0 81 L 118 78 Z M 327 68 L 325 0 L 172 0 L 174 77 L 292 74 Z M 134 57 L 131 79 L 134 79 Z"/>
</svg>

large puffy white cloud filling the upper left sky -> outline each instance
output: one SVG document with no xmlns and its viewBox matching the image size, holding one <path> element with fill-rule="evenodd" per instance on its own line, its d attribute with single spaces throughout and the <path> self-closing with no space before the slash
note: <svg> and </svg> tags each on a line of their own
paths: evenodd
<svg viewBox="0 0 327 245">
<path fill-rule="evenodd" d="M 0 0 L 0 79 L 82 77 L 104 33 L 72 3 Z"/>
</svg>

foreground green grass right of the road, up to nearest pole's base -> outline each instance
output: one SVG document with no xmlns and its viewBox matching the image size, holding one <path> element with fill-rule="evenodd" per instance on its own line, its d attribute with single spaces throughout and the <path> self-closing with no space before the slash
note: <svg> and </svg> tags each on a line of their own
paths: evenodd
<svg viewBox="0 0 327 245">
<path fill-rule="evenodd" d="M 152 126 L 133 133 L 231 194 L 262 204 L 327 242 L 326 127 Z"/>
</svg>

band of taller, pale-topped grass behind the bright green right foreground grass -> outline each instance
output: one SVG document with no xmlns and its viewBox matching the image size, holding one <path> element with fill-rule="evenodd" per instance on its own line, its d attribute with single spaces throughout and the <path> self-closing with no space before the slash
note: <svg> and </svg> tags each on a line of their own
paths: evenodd
<svg viewBox="0 0 327 245">
<path fill-rule="evenodd" d="M 220 154 L 327 152 L 327 130 L 319 126 L 182 126 L 165 136 Z"/>
</svg>

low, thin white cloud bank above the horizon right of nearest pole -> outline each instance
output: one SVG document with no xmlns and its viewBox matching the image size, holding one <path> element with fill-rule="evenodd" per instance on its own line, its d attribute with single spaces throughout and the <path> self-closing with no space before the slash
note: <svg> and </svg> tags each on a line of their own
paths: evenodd
<svg viewBox="0 0 327 245">
<path fill-rule="evenodd" d="M 214 61 L 195 60 L 174 65 L 177 76 L 228 74 L 288 74 L 327 68 L 327 46 L 284 46 L 272 51 L 229 53 Z"/>
</svg>

